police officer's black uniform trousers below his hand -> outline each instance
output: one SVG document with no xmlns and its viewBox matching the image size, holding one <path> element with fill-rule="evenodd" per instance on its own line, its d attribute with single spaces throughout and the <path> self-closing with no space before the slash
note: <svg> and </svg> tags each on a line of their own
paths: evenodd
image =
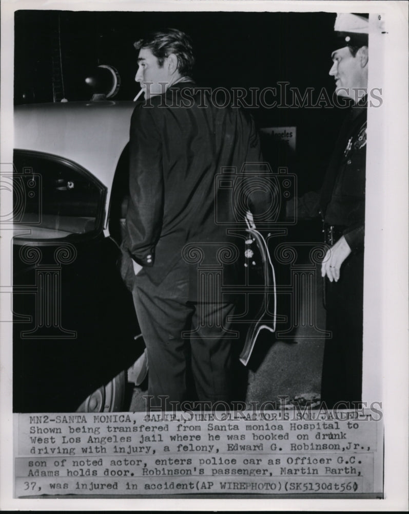
<svg viewBox="0 0 409 514">
<path fill-rule="evenodd" d="M 348 256 L 338 282 L 325 282 L 332 337 L 325 341 L 321 401 L 333 408 L 362 399 L 363 252 Z"/>
</svg>

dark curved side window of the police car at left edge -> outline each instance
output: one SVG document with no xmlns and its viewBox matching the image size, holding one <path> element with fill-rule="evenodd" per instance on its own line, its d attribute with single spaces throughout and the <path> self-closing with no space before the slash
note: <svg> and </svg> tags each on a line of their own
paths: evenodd
<svg viewBox="0 0 409 514">
<path fill-rule="evenodd" d="M 76 163 L 14 151 L 13 221 L 25 239 L 50 239 L 102 229 L 106 188 Z"/>
</svg>

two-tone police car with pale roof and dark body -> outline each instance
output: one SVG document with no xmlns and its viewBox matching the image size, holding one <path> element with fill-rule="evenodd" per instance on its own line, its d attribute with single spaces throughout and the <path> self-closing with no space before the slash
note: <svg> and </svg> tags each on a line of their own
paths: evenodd
<svg viewBox="0 0 409 514">
<path fill-rule="evenodd" d="M 123 410 L 143 353 L 118 269 L 135 103 L 14 112 L 14 412 Z"/>
</svg>

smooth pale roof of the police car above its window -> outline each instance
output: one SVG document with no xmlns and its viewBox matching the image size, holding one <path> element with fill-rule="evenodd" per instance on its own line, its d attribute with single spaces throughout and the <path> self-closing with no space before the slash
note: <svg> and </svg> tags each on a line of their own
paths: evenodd
<svg viewBox="0 0 409 514">
<path fill-rule="evenodd" d="M 64 102 L 14 108 L 14 148 L 80 164 L 108 189 L 129 141 L 132 101 Z"/>
</svg>

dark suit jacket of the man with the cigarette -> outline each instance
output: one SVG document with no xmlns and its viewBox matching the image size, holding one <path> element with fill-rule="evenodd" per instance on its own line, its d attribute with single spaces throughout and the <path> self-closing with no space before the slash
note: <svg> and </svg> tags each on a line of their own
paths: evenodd
<svg viewBox="0 0 409 514">
<path fill-rule="evenodd" d="M 213 105 L 192 82 L 175 84 L 135 107 L 123 248 L 155 285 L 177 263 L 189 268 L 182 256 L 189 243 L 207 249 L 204 259 L 217 264 L 211 244 L 233 241 L 226 227 L 237 225 L 237 210 L 232 205 L 235 185 L 229 192 L 227 181 L 222 194 L 216 176 L 223 167 L 239 173 L 244 163 L 260 161 L 252 118 L 240 109 Z M 265 212 L 270 194 L 255 194 L 248 198 L 250 210 Z M 188 274 L 194 291 L 197 264 L 190 265 Z"/>
</svg>

